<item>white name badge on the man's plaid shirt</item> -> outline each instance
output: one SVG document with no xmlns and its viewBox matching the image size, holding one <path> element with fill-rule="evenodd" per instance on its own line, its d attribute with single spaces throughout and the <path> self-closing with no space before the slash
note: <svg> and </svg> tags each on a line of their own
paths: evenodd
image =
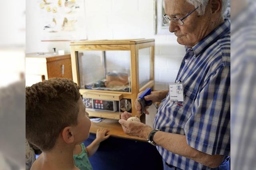
<svg viewBox="0 0 256 170">
<path fill-rule="evenodd" d="M 169 96 L 170 96 L 170 101 L 184 102 L 183 83 L 169 84 Z"/>
</svg>

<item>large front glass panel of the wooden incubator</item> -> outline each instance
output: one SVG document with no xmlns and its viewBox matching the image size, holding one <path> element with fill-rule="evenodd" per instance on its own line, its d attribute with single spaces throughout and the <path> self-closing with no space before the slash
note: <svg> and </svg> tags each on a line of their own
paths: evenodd
<svg viewBox="0 0 256 170">
<path fill-rule="evenodd" d="M 81 51 L 78 68 L 81 89 L 131 92 L 130 51 Z"/>
</svg>

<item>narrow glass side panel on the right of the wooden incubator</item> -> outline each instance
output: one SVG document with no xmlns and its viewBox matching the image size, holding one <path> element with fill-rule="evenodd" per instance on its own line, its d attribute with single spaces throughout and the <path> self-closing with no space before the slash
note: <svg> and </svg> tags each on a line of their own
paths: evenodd
<svg viewBox="0 0 256 170">
<path fill-rule="evenodd" d="M 139 87 L 142 88 L 150 80 L 151 47 L 139 49 Z"/>
</svg>

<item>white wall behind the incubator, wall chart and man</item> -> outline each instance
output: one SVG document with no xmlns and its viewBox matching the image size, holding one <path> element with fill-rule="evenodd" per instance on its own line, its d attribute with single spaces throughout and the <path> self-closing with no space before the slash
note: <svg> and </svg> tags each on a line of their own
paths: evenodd
<svg viewBox="0 0 256 170">
<path fill-rule="evenodd" d="M 95 39 L 155 39 L 155 80 L 157 89 L 168 88 L 174 82 L 185 54 L 176 36 L 154 35 L 153 0 L 85 0 L 88 40 Z M 26 52 L 52 51 L 53 47 L 69 50 L 69 42 L 40 42 L 39 14 L 36 1 L 26 1 Z"/>
</svg>

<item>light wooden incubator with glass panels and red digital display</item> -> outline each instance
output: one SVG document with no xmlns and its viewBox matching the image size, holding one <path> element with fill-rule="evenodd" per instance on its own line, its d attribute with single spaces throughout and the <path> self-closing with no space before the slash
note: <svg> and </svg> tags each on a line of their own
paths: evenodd
<svg viewBox="0 0 256 170">
<path fill-rule="evenodd" d="M 154 88 L 154 39 L 70 43 L 73 81 L 91 117 L 137 115 L 139 92 Z"/>
</svg>

